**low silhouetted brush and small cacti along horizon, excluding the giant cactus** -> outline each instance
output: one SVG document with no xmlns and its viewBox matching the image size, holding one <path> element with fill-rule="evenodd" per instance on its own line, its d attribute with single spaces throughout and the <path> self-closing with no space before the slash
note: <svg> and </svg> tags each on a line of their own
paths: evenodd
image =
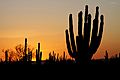
<svg viewBox="0 0 120 80">
<path fill-rule="evenodd" d="M 36 61 L 32 61 L 33 49 L 28 47 L 27 38 L 25 38 L 25 45 L 17 45 L 15 51 L 7 49 L 4 50 L 5 61 L 0 60 L 0 64 L 30 64 L 30 65 L 76 65 L 76 60 L 67 58 L 66 53 L 63 51 L 63 55 L 55 53 L 54 51 L 49 53 L 49 58 L 42 60 L 42 52 L 40 50 L 40 43 L 38 43 L 38 49 L 36 49 Z M 26 53 L 26 56 L 25 56 Z M 118 56 L 119 55 L 119 56 Z M 120 53 L 109 57 L 109 53 L 106 50 L 103 59 L 92 59 L 88 64 L 120 64 Z"/>
</svg>

